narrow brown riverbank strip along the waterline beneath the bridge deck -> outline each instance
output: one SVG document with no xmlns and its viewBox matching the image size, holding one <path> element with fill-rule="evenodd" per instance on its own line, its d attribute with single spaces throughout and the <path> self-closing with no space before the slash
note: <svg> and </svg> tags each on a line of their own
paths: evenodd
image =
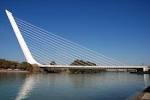
<svg viewBox="0 0 150 100">
<path fill-rule="evenodd" d="M 0 72 L 28 72 L 28 73 L 68 73 L 68 74 L 92 74 L 92 73 L 100 73 L 100 72 L 129 72 L 132 73 L 135 69 L 86 69 L 86 68 L 80 68 L 80 69 L 73 69 L 73 68 L 40 68 L 37 65 L 31 65 L 30 70 L 26 69 L 12 69 L 12 68 L 0 68 Z M 139 74 L 137 72 L 134 72 L 136 74 Z M 150 73 L 150 72 L 148 72 Z M 143 72 L 140 72 L 140 74 L 144 74 Z"/>
</svg>

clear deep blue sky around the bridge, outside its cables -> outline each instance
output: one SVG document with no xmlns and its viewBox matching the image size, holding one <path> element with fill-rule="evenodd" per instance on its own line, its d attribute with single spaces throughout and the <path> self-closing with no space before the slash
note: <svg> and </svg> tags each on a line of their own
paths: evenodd
<svg viewBox="0 0 150 100">
<path fill-rule="evenodd" d="M 0 0 L 0 58 L 24 56 L 6 17 L 15 16 L 126 64 L 150 64 L 149 0 Z"/>
</svg>

